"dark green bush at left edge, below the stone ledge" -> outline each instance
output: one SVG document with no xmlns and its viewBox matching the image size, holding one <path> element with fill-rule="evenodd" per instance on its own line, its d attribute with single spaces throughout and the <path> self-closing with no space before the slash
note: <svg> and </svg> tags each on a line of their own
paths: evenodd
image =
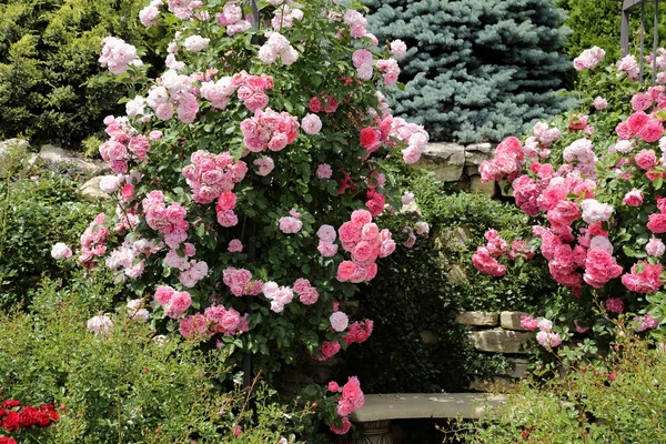
<svg viewBox="0 0 666 444">
<path fill-rule="evenodd" d="M 3 159 L 0 179 L 0 307 L 26 299 L 42 274 L 68 276 L 73 265 L 51 258 L 57 242 L 79 243 L 99 205 L 81 202 L 78 176 L 31 164 L 24 149 Z"/>
</svg>

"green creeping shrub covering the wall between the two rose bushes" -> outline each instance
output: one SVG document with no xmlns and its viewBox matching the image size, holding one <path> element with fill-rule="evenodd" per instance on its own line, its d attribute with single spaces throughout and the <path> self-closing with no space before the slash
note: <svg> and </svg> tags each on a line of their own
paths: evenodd
<svg viewBox="0 0 666 444">
<path fill-rule="evenodd" d="M 541 259 L 526 261 L 522 270 L 508 272 L 502 280 L 481 274 L 472 265 L 472 255 L 485 243 L 488 229 L 497 230 L 508 242 L 529 236 L 527 216 L 515 206 L 484 194 L 448 194 L 445 185 L 428 175 L 415 175 L 411 190 L 431 225 L 441 266 L 450 278 L 441 293 L 445 301 L 454 300 L 463 310 L 529 312 L 557 291 Z"/>
</svg>

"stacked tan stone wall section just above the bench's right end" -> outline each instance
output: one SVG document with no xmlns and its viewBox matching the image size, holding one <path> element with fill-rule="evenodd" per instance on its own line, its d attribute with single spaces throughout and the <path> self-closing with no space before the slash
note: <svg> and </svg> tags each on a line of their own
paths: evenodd
<svg viewBox="0 0 666 444">
<path fill-rule="evenodd" d="M 526 343 L 533 333 L 521 327 L 522 312 L 462 312 L 456 321 L 470 327 L 470 341 L 480 352 L 501 354 L 513 363 L 513 370 L 497 373 L 494 382 L 511 384 L 527 375 L 528 351 Z M 486 384 L 475 375 L 471 376 L 470 389 L 486 390 Z"/>
</svg>

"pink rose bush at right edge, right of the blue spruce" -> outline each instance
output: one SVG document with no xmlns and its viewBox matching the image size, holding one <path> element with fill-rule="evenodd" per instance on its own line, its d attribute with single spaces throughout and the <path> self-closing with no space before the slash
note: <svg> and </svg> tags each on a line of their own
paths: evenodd
<svg viewBox="0 0 666 444">
<path fill-rule="evenodd" d="M 574 62 L 582 71 L 582 109 L 537 123 L 524 141 L 505 139 L 480 167 L 483 181 L 511 183 L 515 204 L 532 218 L 551 275 L 576 301 L 568 325 L 556 333 L 539 325 L 537 340 L 548 350 L 559 344 L 559 333 L 564 340 L 569 331 L 609 329 L 608 320 L 596 316 L 598 304 L 615 315 L 637 315 L 636 331 L 663 334 L 655 329 L 666 319 L 665 53 L 657 52 L 657 85 L 649 87 L 637 82 L 634 56 L 588 72 L 604 51 L 584 51 Z M 646 65 L 652 63 L 648 57 Z M 507 266 L 517 266 L 496 232 L 486 238 L 473 258 L 478 270 L 502 276 Z M 534 253 L 523 251 L 524 259 Z"/>
</svg>

